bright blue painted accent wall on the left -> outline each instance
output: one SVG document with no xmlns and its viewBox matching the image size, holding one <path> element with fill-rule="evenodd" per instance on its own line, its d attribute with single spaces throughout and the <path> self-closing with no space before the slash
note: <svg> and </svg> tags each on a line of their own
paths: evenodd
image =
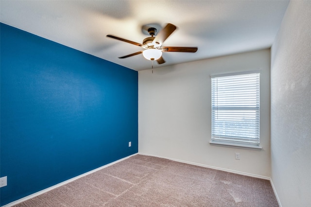
<svg viewBox="0 0 311 207">
<path fill-rule="evenodd" d="M 137 71 L 0 32 L 1 206 L 138 152 Z"/>
</svg>

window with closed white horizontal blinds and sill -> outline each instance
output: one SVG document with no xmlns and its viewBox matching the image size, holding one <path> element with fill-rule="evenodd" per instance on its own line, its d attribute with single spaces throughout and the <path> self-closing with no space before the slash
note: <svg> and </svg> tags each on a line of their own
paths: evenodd
<svg viewBox="0 0 311 207">
<path fill-rule="evenodd" d="M 259 73 L 211 76 L 211 144 L 259 147 Z"/>
</svg>

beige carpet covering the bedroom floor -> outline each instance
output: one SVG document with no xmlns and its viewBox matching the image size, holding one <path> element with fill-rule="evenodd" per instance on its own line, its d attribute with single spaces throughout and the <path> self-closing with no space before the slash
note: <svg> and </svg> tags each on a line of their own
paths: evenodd
<svg viewBox="0 0 311 207">
<path fill-rule="evenodd" d="M 278 207 L 270 181 L 134 155 L 15 207 Z"/>
</svg>

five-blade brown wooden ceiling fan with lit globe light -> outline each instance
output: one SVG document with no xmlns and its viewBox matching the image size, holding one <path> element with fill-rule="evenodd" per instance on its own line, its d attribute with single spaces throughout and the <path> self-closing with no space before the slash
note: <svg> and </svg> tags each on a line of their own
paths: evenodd
<svg viewBox="0 0 311 207">
<path fill-rule="evenodd" d="M 131 57 L 137 54 L 141 54 L 147 60 L 156 60 L 158 64 L 165 63 L 165 60 L 162 57 L 162 52 L 196 52 L 198 50 L 197 47 L 189 48 L 189 47 L 163 47 L 163 42 L 176 30 L 176 26 L 173 24 L 167 24 L 162 30 L 158 32 L 156 36 L 156 29 L 154 27 L 148 28 L 148 33 L 151 35 L 150 37 L 145 38 L 142 41 L 142 44 L 133 42 L 127 39 L 123 39 L 121 37 L 117 37 L 114 35 L 107 35 L 107 37 L 111 37 L 114 39 L 121 40 L 123 42 L 127 42 L 133 45 L 137 45 L 142 47 L 143 51 L 135 52 L 132 54 L 128 54 L 119 58 Z"/>
</svg>

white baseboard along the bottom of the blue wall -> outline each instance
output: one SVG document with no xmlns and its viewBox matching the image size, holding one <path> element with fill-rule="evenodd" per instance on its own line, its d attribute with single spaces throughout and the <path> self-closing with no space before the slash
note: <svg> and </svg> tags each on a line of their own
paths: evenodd
<svg viewBox="0 0 311 207">
<path fill-rule="evenodd" d="M 45 193 L 45 192 L 48 192 L 48 191 L 53 190 L 53 189 L 56 189 L 56 188 L 58 188 L 58 187 L 60 187 L 60 186 L 66 185 L 67 183 L 70 183 L 70 182 L 72 182 L 72 181 L 74 181 L 74 180 L 76 180 L 76 179 L 79 179 L 79 178 L 81 178 L 81 177 L 83 177 L 83 176 L 86 176 L 86 175 L 88 175 L 88 174 L 91 174 L 91 173 L 95 173 L 96 171 L 102 170 L 102 169 L 104 169 L 104 168 L 106 168 L 106 167 L 108 167 L 108 166 L 110 166 L 110 165 L 113 165 L 113 164 L 116 164 L 116 163 L 118 163 L 118 162 L 121 162 L 122 160 L 125 160 L 125 159 L 127 159 L 127 158 L 129 158 L 129 157 L 131 157 L 131 156 L 137 155 L 137 154 L 138 154 L 138 153 L 133 154 L 133 155 L 129 155 L 129 156 L 124 157 L 124 158 L 121 158 L 121 159 L 118 159 L 117 161 L 111 162 L 111 163 L 109 163 L 109 164 L 106 164 L 106 165 L 104 165 L 104 166 L 102 166 L 102 167 L 99 167 L 99 168 L 96 168 L 96 169 L 94 169 L 94 170 L 91 170 L 91 171 L 89 171 L 89 172 L 80 174 L 80 175 L 78 175 L 78 176 L 76 176 L 76 177 L 70 178 L 69 180 L 65 180 L 64 182 L 58 183 L 58 184 L 56 184 L 56 185 L 54 185 L 54 186 L 51 186 L 51 187 L 49 187 L 49 188 L 47 188 L 47 189 L 44 189 L 44 190 L 40 190 L 40 191 L 38 191 L 38 192 L 35 192 L 34 194 L 31 194 L 31 195 L 28 195 L 28 196 L 23 197 L 23 198 L 21 198 L 21 199 L 18 199 L 18 200 L 16 200 L 16 201 L 13 201 L 13 202 L 11 202 L 11 203 L 9 203 L 9 204 L 6 204 L 6 205 L 4 205 L 4 206 L 2 206 L 2 207 L 12 207 L 12 206 L 17 205 L 17 204 L 19 204 L 19 203 L 21 203 L 21 202 L 24 202 L 24 201 L 26 201 L 26 200 L 28 200 L 28 199 L 34 198 L 35 196 L 41 195 L 41 194 L 43 194 L 43 193 Z"/>
</svg>

